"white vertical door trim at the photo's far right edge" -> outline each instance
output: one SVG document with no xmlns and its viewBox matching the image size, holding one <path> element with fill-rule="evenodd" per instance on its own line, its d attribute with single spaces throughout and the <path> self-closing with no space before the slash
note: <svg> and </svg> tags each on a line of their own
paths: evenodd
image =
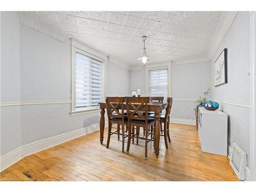
<svg viewBox="0 0 256 192">
<path fill-rule="evenodd" d="M 250 17 L 250 180 L 256 181 L 256 13 Z"/>
</svg>

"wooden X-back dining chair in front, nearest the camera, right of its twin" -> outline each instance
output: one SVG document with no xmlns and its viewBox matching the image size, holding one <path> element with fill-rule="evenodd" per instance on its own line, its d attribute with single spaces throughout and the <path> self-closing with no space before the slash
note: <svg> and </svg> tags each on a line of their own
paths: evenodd
<svg viewBox="0 0 256 192">
<path fill-rule="evenodd" d="M 126 110 L 128 114 L 128 140 L 127 140 L 127 149 L 126 152 L 129 153 L 131 139 L 136 138 L 137 144 L 138 139 L 145 140 L 145 160 L 147 160 L 147 143 L 150 141 L 154 141 L 154 137 L 148 139 L 149 135 L 153 135 L 148 133 L 148 127 L 153 126 L 155 124 L 155 119 L 147 117 L 147 103 L 150 101 L 149 97 L 127 97 L 126 98 Z M 143 113 L 145 112 L 145 113 Z M 133 130 L 132 130 L 133 127 Z M 136 134 L 134 133 L 134 127 L 136 127 Z M 143 127 L 145 129 L 145 138 L 139 136 L 139 129 Z M 132 133 L 133 132 L 133 133 Z"/>
</svg>

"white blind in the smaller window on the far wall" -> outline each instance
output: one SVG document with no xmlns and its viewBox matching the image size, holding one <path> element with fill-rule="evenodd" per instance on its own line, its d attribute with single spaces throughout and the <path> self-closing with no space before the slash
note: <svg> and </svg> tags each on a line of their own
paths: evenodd
<svg viewBox="0 0 256 192">
<path fill-rule="evenodd" d="M 150 97 L 168 96 L 168 70 L 148 71 L 148 94 Z"/>
</svg>

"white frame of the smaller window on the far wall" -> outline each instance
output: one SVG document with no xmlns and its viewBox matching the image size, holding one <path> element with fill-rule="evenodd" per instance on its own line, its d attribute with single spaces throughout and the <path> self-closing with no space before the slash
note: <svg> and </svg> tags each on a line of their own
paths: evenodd
<svg viewBox="0 0 256 192">
<path fill-rule="evenodd" d="M 148 64 L 145 66 L 145 90 L 146 90 L 146 96 L 149 96 L 149 84 L 148 84 L 148 73 L 152 70 L 160 70 L 160 69 L 167 69 L 167 84 L 168 84 L 168 90 L 167 90 L 167 97 L 171 96 L 171 72 L 172 72 L 172 65 L 171 62 L 163 62 L 163 63 L 156 63 L 156 64 Z"/>
</svg>

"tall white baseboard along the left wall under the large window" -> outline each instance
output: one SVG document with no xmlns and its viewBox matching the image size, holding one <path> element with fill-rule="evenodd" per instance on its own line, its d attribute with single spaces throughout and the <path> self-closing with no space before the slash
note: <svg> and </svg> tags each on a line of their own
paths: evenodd
<svg viewBox="0 0 256 192">
<path fill-rule="evenodd" d="M 105 125 L 107 124 L 108 121 L 105 122 Z M 0 172 L 2 172 L 6 168 L 8 168 L 9 166 L 11 166 L 12 164 L 16 163 L 17 161 L 26 156 L 40 152 L 52 146 L 67 142 L 69 140 L 81 137 L 83 135 L 95 132 L 97 130 L 99 130 L 99 124 L 91 125 L 69 133 L 57 135 L 51 138 L 22 145 L 16 148 L 15 150 L 3 155 L 0 158 Z"/>
</svg>

